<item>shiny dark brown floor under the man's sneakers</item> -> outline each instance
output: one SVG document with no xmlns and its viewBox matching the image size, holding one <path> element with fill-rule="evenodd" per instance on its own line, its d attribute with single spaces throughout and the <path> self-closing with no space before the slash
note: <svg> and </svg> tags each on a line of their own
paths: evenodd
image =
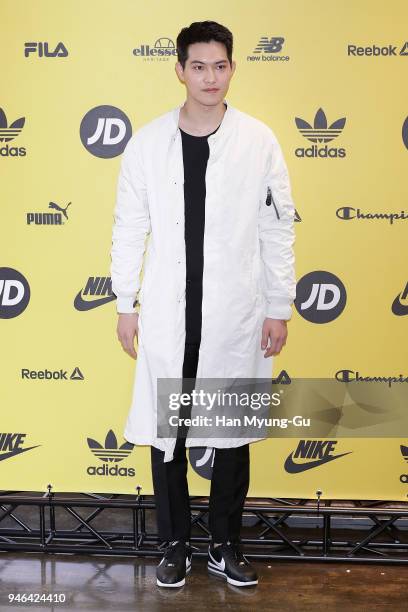
<svg viewBox="0 0 408 612">
<path fill-rule="evenodd" d="M 156 586 L 157 558 L 0 553 L 0 610 L 408 610 L 406 566 L 254 561 L 255 588 L 208 576 L 193 558 L 181 589 Z M 61 594 L 65 603 L 9 603 L 9 594 Z"/>
</svg>

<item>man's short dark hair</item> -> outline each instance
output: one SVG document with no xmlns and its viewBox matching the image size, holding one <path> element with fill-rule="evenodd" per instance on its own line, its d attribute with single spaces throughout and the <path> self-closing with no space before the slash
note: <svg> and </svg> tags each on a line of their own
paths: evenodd
<svg viewBox="0 0 408 612">
<path fill-rule="evenodd" d="M 215 40 L 225 45 L 228 61 L 232 62 L 232 33 L 216 21 L 195 21 L 188 28 L 183 28 L 177 36 L 177 57 L 183 69 L 188 58 L 188 46 L 196 42 Z"/>
</svg>

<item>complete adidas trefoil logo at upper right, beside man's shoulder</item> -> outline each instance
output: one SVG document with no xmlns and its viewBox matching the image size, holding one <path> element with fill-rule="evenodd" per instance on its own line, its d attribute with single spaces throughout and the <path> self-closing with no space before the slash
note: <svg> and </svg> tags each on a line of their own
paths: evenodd
<svg viewBox="0 0 408 612">
<path fill-rule="evenodd" d="M 299 132 L 309 140 L 310 142 L 316 143 L 316 145 L 312 147 L 298 148 L 295 150 L 295 155 L 297 157 L 345 157 L 346 151 L 345 149 L 338 149 L 335 147 L 328 148 L 327 143 L 331 142 L 335 138 L 338 138 L 342 133 L 344 126 L 346 124 L 346 118 L 342 117 L 341 119 L 337 119 L 332 124 L 328 125 L 326 114 L 322 108 L 319 108 L 317 111 L 313 125 L 301 119 L 300 117 L 295 117 L 295 123 L 299 130 Z M 318 144 L 325 144 L 325 147 L 317 146 Z"/>
</svg>

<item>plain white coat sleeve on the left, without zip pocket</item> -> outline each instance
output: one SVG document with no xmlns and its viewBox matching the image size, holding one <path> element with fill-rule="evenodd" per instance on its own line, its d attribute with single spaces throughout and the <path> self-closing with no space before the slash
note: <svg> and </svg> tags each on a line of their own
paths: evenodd
<svg viewBox="0 0 408 612">
<path fill-rule="evenodd" d="M 122 154 L 112 230 L 110 272 L 118 313 L 136 312 L 145 239 L 150 230 L 142 154 L 134 135 Z"/>
</svg>

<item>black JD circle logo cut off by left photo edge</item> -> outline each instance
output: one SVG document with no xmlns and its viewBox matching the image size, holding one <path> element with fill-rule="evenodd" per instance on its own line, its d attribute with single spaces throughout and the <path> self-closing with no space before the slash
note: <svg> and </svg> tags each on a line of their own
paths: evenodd
<svg viewBox="0 0 408 612">
<path fill-rule="evenodd" d="M 0 268 L 0 318 L 18 317 L 30 301 L 27 279 L 13 268 Z"/>
</svg>

